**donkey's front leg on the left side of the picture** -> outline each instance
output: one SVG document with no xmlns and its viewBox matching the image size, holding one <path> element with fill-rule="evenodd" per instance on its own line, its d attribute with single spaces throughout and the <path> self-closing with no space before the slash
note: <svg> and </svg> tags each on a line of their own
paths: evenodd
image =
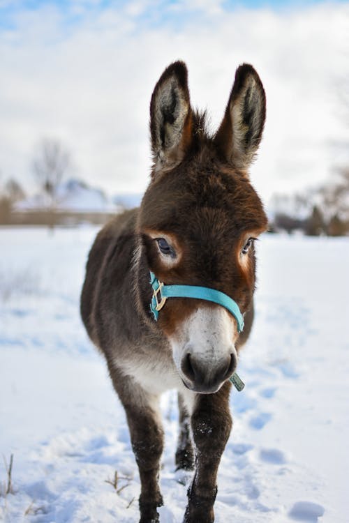
<svg viewBox="0 0 349 523">
<path fill-rule="evenodd" d="M 158 397 L 147 393 L 129 377 L 120 377 L 113 372 L 112 380 L 126 411 L 133 453 L 140 472 L 140 523 L 156 523 L 156 508 L 163 505 L 158 486 L 163 453 L 163 428 Z"/>
</svg>

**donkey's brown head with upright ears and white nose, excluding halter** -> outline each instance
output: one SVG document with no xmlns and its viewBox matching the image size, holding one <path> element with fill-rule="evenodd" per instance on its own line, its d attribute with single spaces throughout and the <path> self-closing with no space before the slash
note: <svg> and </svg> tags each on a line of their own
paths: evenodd
<svg viewBox="0 0 349 523">
<path fill-rule="evenodd" d="M 265 92 L 252 66 L 237 69 L 221 126 L 205 130 L 191 108 L 187 70 L 172 63 L 151 97 L 151 183 L 140 208 L 140 303 L 149 321 L 149 274 L 165 285 L 209 287 L 230 296 L 242 314 L 255 288 L 253 242 L 267 227 L 248 180 L 265 122 Z M 237 365 L 237 320 L 202 299 L 171 298 L 157 325 L 170 341 L 184 384 L 218 391 Z"/>
</svg>

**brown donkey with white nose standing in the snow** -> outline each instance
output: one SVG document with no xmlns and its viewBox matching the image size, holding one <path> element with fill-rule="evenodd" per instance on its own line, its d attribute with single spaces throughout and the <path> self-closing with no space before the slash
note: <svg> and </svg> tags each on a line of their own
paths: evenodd
<svg viewBox="0 0 349 523">
<path fill-rule="evenodd" d="M 126 411 L 140 523 L 158 522 L 163 504 L 158 403 L 171 388 L 179 395 L 175 463 L 195 467 L 184 522 L 214 522 L 232 427 L 229 379 L 253 321 L 253 242 L 267 228 L 248 179 L 264 123 L 265 91 L 252 66 L 237 69 L 211 135 L 205 114 L 191 108 L 185 63 L 172 63 L 151 97 L 154 164 L 140 208 L 107 223 L 89 253 L 81 314 Z"/>
</svg>

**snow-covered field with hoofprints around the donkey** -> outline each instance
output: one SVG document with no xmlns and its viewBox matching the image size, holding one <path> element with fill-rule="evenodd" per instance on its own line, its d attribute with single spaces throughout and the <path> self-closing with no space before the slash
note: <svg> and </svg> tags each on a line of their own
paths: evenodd
<svg viewBox="0 0 349 523">
<path fill-rule="evenodd" d="M 124 411 L 78 312 L 95 234 L 0 229 L 0 454 L 14 455 L 7 496 L 0 462 L 3 522 L 138 522 Z M 216 522 L 348 523 L 349 240 L 264 236 L 258 258 Z M 173 392 L 162 407 L 161 523 L 180 523 Z"/>
</svg>

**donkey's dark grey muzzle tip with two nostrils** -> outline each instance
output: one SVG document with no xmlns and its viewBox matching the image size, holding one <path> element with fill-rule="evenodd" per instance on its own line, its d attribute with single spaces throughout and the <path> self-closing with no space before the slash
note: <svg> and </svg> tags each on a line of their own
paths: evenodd
<svg viewBox="0 0 349 523">
<path fill-rule="evenodd" d="M 212 363 L 200 356 L 187 352 L 181 359 L 184 385 L 191 391 L 210 394 L 219 390 L 237 367 L 237 356 L 232 352 L 226 358 Z"/>
</svg>

